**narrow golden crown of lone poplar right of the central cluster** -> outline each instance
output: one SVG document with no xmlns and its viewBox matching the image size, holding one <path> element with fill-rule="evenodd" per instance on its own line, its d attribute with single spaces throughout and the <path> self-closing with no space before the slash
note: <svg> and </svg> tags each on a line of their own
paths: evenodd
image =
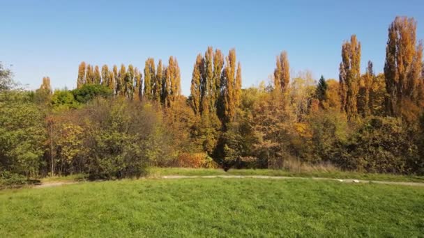
<svg viewBox="0 0 424 238">
<path fill-rule="evenodd" d="M 274 88 L 284 93 L 289 86 L 290 81 L 290 66 L 289 59 L 287 58 L 287 52 L 282 51 L 277 56 L 276 67 L 274 70 Z"/>
</svg>

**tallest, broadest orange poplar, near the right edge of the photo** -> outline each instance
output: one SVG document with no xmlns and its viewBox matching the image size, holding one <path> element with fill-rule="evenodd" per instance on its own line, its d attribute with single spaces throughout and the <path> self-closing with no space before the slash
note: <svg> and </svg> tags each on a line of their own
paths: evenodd
<svg viewBox="0 0 424 238">
<path fill-rule="evenodd" d="M 416 110 L 420 84 L 423 46 L 416 45 L 414 18 L 396 17 L 388 28 L 386 62 L 386 113 L 389 116 L 406 116 Z M 409 118 L 414 120 L 414 118 Z M 416 118 L 415 118 L 416 119 Z"/>
</svg>

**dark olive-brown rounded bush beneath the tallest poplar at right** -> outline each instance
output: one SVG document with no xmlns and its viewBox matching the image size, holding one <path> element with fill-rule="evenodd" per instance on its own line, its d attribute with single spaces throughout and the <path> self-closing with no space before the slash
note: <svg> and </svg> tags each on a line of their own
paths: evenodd
<svg viewBox="0 0 424 238">
<path fill-rule="evenodd" d="M 370 117 L 338 148 L 342 168 L 370 173 L 412 173 L 418 148 L 399 118 Z"/>
</svg>

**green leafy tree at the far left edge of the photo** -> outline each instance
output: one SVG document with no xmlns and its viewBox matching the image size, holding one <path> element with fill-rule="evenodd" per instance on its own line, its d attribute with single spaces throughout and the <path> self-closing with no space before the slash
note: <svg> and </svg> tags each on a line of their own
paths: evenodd
<svg viewBox="0 0 424 238">
<path fill-rule="evenodd" d="M 45 151 L 43 114 L 26 93 L 6 93 L 14 97 L 0 97 L 0 168 L 35 177 Z"/>
</svg>

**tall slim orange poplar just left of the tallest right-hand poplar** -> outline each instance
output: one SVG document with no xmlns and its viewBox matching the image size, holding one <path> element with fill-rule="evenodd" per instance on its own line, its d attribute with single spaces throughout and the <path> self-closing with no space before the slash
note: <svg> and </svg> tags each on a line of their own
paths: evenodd
<svg viewBox="0 0 424 238">
<path fill-rule="evenodd" d="M 342 111 L 347 118 L 356 116 L 359 79 L 361 77 L 361 43 L 356 35 L 351 35 L 350 42 L 342 45 L 342 62 L 340 63 L 340 97 Z"/>
</svg>

